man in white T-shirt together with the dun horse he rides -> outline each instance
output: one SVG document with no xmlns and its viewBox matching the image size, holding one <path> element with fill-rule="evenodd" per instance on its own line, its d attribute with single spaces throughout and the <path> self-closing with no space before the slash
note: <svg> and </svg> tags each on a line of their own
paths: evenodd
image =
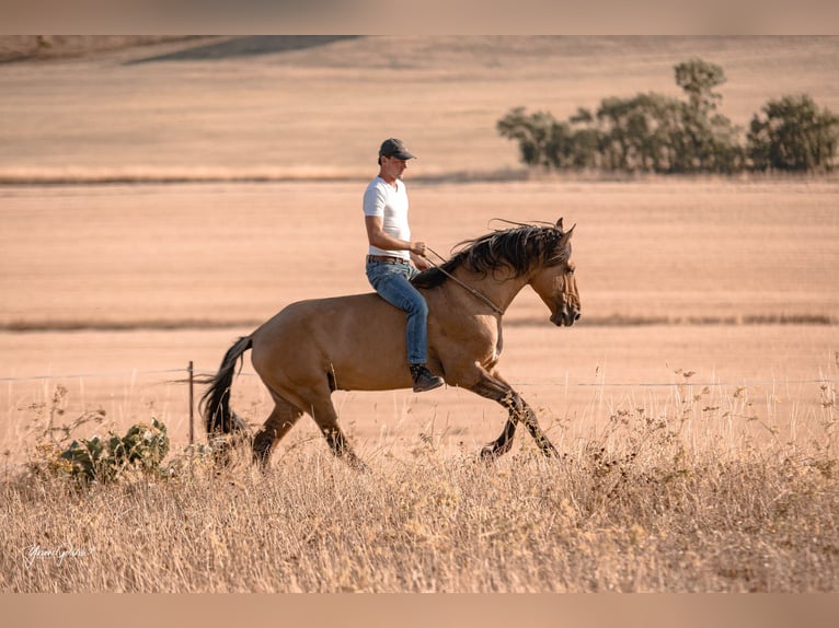
<svg viewBox="0 0 839 628">
<path fill-rule="evenodd" d="M 210 386 L 202 397 L 207 433 L 214 442 L 218 435 L 246 437 L 254 458 L 265 465 L 280 439 L 308 414 L 332 452 L 360 467 L 338 425 L 332 393 L 411 385 L 414 391 L 429 391 L 445 381 L 508 411 L 501 435 L 483 447 L 481 456 L 509 451 L 519 423 L 543 454 L 558 455 L 536 412 L 504 380 L 497 364 L 502 318 L 526 286 L 542 299 L 554 325 L 570 326 L 579 318 L 571 260 L 574 229 L 565 231 L 562 219 L 512 223 L 510 229 L 461 243 L 450 259 L 433 266 L 424 257 L 425 244 L 411 241 L 407 228 L 407 196 L 400 177 L 414 155 L 392 138 L 379 153 L 380 172 L 364 202 L 370 244 L 366 270 L 378 294 L 297 301 L 237 340 L 216 375 L 207 380 Z M 249 350 L 275 404 L 252 439 L 248 423 L 230 408 L 237 363 Z"/>
</svg>

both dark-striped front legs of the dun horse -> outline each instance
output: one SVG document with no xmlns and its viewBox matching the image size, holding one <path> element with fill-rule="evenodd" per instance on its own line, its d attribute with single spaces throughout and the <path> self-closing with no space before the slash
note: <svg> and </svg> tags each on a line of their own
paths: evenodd
<svg viewBox="0 0 839 628">
<path fill-rule="evenodd" d="M 525 427 L 530 432 L 530 435 L 533 437 L 539 450 L 545 456 L 560 456 L 556 447 L 553 446 L 539 427 L 539 421 L 536 418 L 533 409 L 504 380 L 484 373 L 476 384 L 470 386 L 470 389 L 482 397 L 497 402 L 507 408 L 507 411 L 509 412 L 507 422 L 504 425 L 501 435 L 481 450 L 481 457 L 495 458 L 506 454 L 513 446 L 513 437 L 516 434 L 516 425 L 519 421 L 525 423 Z"/>
</svg>

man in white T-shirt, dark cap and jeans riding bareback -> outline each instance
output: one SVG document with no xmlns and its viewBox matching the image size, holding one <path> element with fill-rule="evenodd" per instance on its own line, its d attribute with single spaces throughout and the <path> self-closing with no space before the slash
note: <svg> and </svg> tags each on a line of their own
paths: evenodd
<svg viewBox="0 0 839 628">
<path fill-rule="evenodd" d="M 388 303 L 407 313 L 407 362 L 414 392 L 432 391 L 443 379 L 427 368 L 427 318 L 425 298 L 411 284 L 411 278 L 430 267 L 424 257 L 425 243 L 411 241 L 407 223 L 407 193 L 402 173 L 414 159 L 402 140 L 387 139 L 379 149 L 379 174 L 364 193 L 367 240 L 367 279 Z M 413 263 L 413 266 L 412 264 Z"/>
</svg>

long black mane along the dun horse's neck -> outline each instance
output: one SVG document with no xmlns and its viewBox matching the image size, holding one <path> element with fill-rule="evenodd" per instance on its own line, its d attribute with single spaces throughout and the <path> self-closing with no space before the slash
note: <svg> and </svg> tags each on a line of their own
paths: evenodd
<svg viewBox="0 0 839 628">
<path fill-rule="evenodd" d="M 570 243 L 558 246 L 564 233 L 556 225 L 503 222 L 516 226 L 458 243 L 448 260 L 418 274 L 412 283 L 417 288 L 436 288 L 448 279 L 446 272 L 451 274 L 460 266 L 484 276 L 506 270 L 508 277 L 519 277 L 535 264 L 555 266 L 571 256 Z"/>
</svg>

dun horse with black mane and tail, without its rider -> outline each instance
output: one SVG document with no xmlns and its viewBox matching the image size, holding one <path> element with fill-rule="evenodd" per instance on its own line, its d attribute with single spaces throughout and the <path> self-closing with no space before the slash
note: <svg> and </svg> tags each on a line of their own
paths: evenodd
<svg viewBox="0 0 839 628">
<path fill-rule="evenodd" d="M 506 453 L 522 422 L 545 455 L 556 455 L 530 406 L 496 369 L 502 352 L 502 318 L 516 294 L 531 286 L 556 326 L 579 318 L 571 261 L 572 228 L 520 224 L 460 244 L 446 263 L 416 278 L 428 303 L 428 368 L 450 386 L 494 399 L 509 417 L 501 435 L 481 451 Z M 266 464 L 279 440 L 309 414 L 332 452 L 363 466 L 338 426 L 333 391 L 411 387 L 406 368 L 405 314 L 375 293 L 292 303 L 227 352 L 202 397 L 207 432 L 246 434 L 230 409 L 237 362 L 252 349 L 253 368 L 275 407 L 252 440 L 253 455 Z"/>
</svg>

